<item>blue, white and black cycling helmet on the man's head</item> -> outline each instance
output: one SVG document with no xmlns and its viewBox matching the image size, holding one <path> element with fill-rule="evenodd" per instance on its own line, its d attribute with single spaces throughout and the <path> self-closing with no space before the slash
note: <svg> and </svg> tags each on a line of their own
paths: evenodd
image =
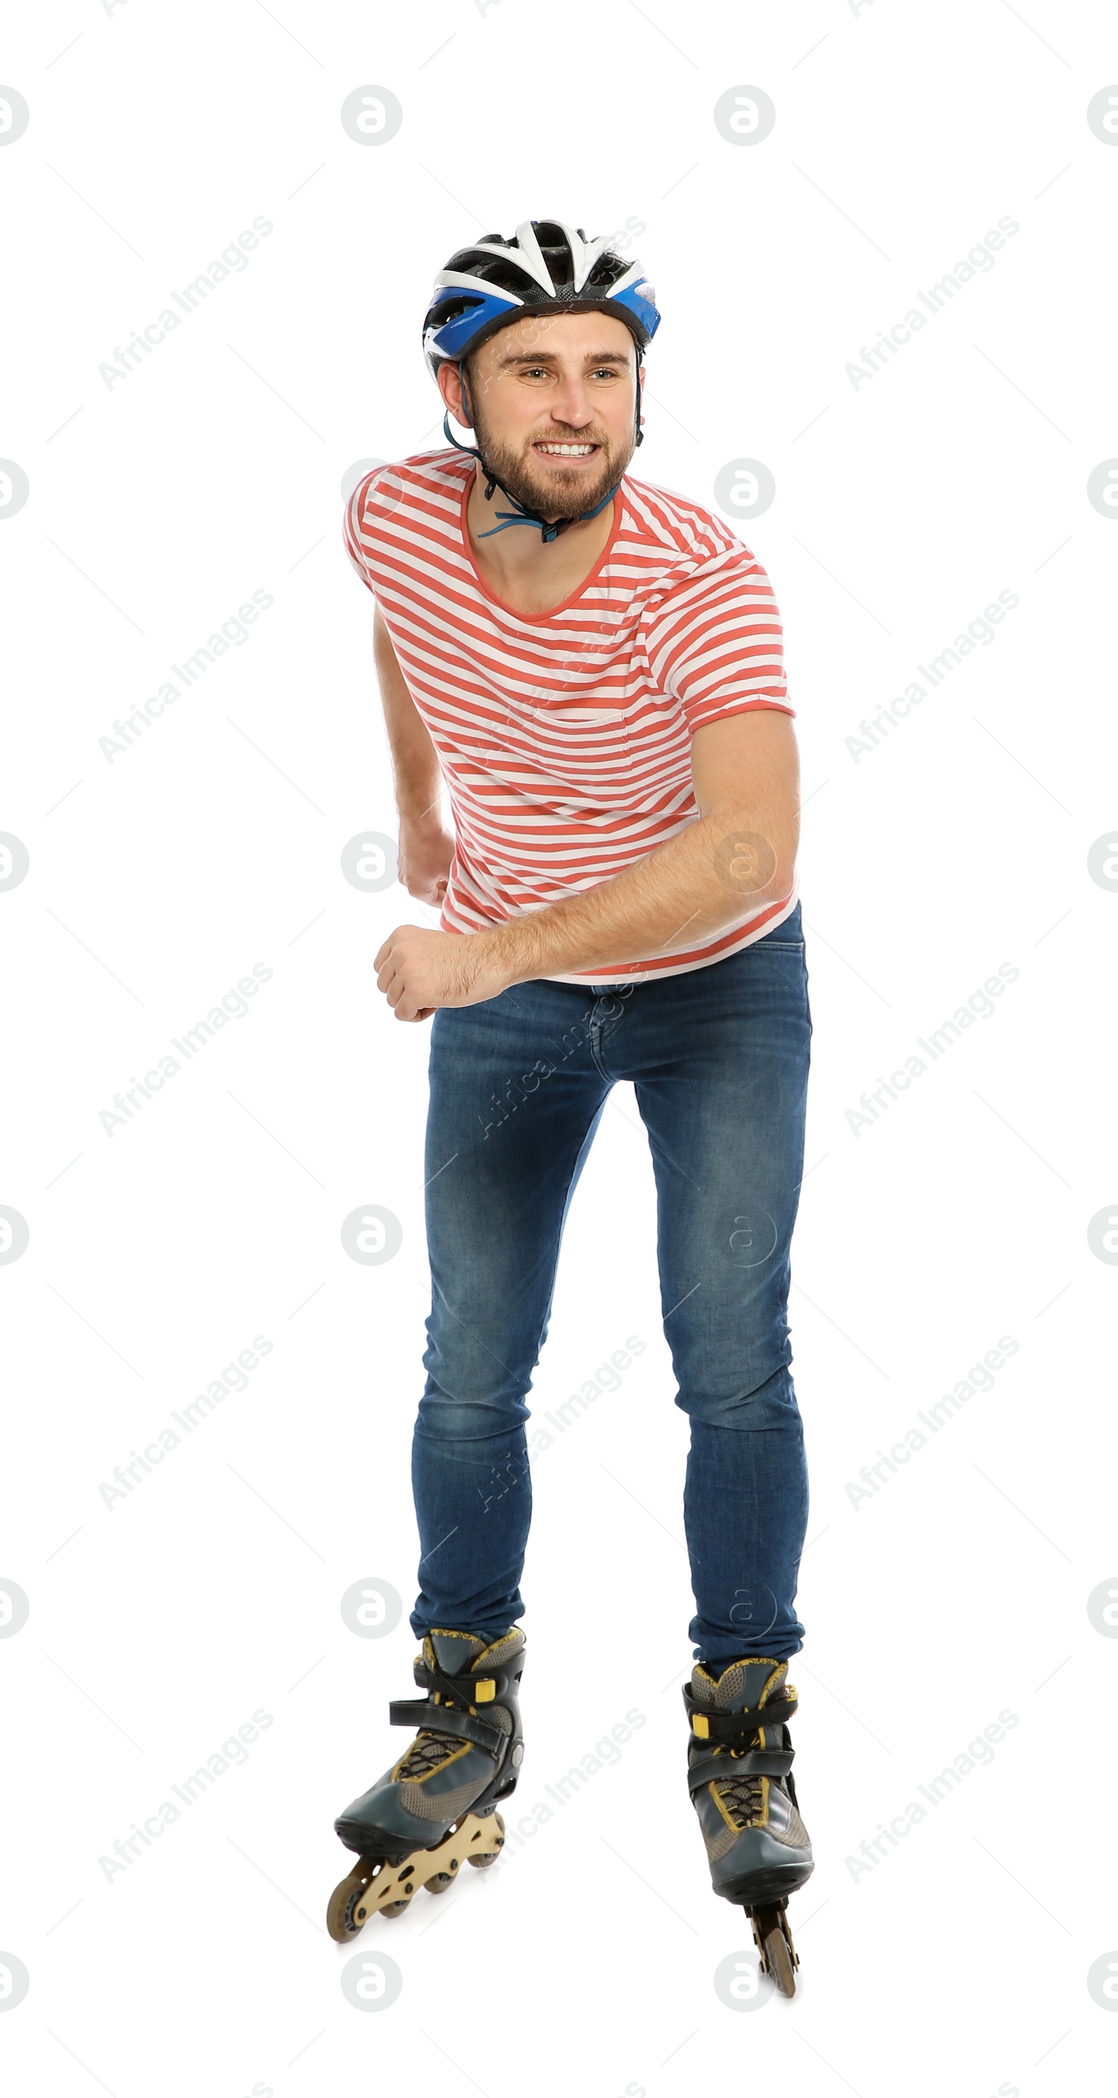
<svg viewBox="0 0 1118 2098">
<path fill-rule="evenodd" d="M 522 315 L 594 311 L 625 321 L 640 363 L 661 325 L 642 264 L 617 254 L 608 237 L 587 241 L 581 227 L 526 218 L 510 241 L 487 233 L 438 271 L 424 317 L 424 357 L 434 378 L 438 365 L 457 363 Z"/>
</svg>

